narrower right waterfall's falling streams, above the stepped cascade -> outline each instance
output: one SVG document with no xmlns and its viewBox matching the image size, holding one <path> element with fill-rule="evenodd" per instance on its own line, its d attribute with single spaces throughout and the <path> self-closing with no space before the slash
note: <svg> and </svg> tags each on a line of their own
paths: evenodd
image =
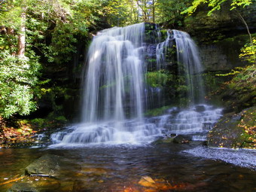
<svg viewBox="0 0 256 192">
<path fill-rule="evenodd" d="M 201 76 L 203 66 L 197 45 L 187 32 L 172 29 L 167 30 L 166 33 L 166 40 L 157 44 L 157 69 L 166 67 L 166 54 L 172 49 L 169 47 L 169 42 L 175 41 L 179 74 L 184 75 L 186 79 L 187 99 L 189 99 L 190 105 L 204 102 L 205 93 Z"/>
</svg>

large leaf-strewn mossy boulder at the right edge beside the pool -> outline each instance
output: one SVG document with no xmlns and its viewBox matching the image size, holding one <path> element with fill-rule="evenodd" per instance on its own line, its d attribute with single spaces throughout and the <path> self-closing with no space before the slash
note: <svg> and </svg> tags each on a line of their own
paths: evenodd
<svg viewBox="0 0 256 192">
<path fill-rule="evenodd" d="M 256 148 L 256 107 L 239 114 L 226 114 L 210 131 L 207 144 L 213 148 Z"/>
</svg>

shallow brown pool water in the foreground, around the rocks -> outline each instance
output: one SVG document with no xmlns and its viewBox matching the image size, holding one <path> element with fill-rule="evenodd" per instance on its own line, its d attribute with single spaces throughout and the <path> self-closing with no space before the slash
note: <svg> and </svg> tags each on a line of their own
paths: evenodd
<svg viewBox="0 0 256 192">
<path fill-rule="evenodd" d="M 2 183 L 23 176 L 25 167 L 44 154 L 66 157 L 81 169 L 66 167 L 59 178 L 25 177 L 20 180 L 35 184 L 40 191 L 256 190 L 255 165 L 241 167 L 217 158 L 197 157 L 195 150 L 198 150 L 195 144 L 0 149 L 0 191 L 6 191 L 15 182 Z M 221 156 L 222 152 L 219 153 Z M 253 161 L 254 151 L 245 154 Z M 177 187 L 166 190 L 142 187 L 138 184 L 142 176 Z"/>
</svg>

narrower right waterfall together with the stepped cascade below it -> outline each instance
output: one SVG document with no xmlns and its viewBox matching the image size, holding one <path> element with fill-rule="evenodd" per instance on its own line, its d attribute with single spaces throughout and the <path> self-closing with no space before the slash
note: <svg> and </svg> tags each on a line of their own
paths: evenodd
<svg viewBox="0 0 256 192">
<path fill-rule="evenodd" d="M 222 110 L 202 104 L 205 102 L 201 75 L 203 66 L 200 62 L 197 46 L 187 32 L 167 30 L 166 40 L 157 44 L 157 69 L 166 68 L 166 55 L 172 48 L 169 47 L 170 41 L 175 41 L 178 70 L 179 74 L 184 75 L 186 79 L 187 99 L 190 107 L 183 110 L 175 108 L 174 114 L 169 112 L 169 114 L 156 117 L 158 119 L 157 126 L 166 128 L 167 135 L 169 133 L 196 134 L 193 136 L 194 140 L 205 140 L 206 133 L 221 117 Z M 169 111 L 173 111 L 173 108 Z"/>
</svg>

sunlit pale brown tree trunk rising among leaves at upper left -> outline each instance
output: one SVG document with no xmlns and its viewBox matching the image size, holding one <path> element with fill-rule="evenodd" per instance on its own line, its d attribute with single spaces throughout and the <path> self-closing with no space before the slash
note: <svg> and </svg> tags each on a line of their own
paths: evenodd
<svg viewBox="0 0 256 192">
<path fill-rule="evenodd" d="M 19 36 L 18 36 L 18 52 L 17 52 L 17 56 L 25 56 L 25 43 L 26 43 L 26 12 L 24 11 L 21 14 L 21 25 L 20 25 L 20 32 L 19 32 Z"/>
</svg>

